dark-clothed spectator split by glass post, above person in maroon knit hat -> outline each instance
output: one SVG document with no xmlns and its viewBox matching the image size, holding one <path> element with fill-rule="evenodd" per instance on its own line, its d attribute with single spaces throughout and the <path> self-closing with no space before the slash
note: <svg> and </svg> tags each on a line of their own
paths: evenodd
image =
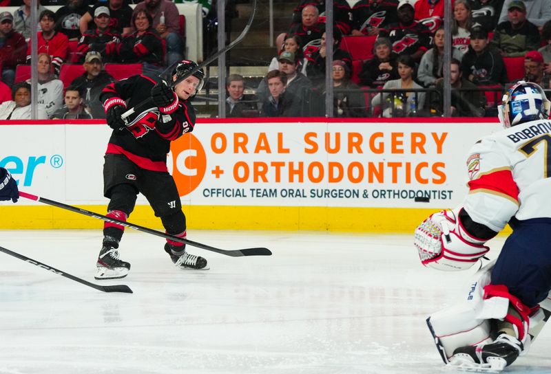
<svg viewBox="0 0 551 374">
<path fill-rule="evenodd" d="M 306 76 L 311 80 L 313 87 L 318 87 L 325 79 L 325 61 L 326 61 L 326 39 L 325 32 L 322 34 L 322 45 L 320 49 L 313 52 L 311 56 L 306 56 L 306 66 L 302 69 Z M 333 61 L 341 60 L 348 65 L 352 72 L 352 57 L 349 52 L 341 50 L 339 45 L 342 35 L 338 28 L 333 28 Z"/>
</svg>

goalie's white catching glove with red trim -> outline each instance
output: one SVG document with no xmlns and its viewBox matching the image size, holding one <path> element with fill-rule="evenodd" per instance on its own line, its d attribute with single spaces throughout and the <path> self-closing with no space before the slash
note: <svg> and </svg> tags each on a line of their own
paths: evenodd
<svg viewBox="0 0 551 374">
<path fill-rule="evenodd" d="M 454 210 L 430 214 L 416 229 L 414 245 L 425 266 L 438 270 L 466 270 L 475 264 L 490 248 L 486 239 L 470 235 Z"/>
</svg>

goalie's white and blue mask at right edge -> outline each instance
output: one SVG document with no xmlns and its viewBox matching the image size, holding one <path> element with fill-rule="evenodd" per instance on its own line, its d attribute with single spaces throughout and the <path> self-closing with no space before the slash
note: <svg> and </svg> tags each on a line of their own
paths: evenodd
<svg viewBox="0 0 551 374">
<path fill-rule="evenodd" d="M 503 104 L 497 107 L 499 122 L 508 128 L 516 124 L 549 118 L 551 102 L 539 85 L 519 81 L 503 95 Z"/>
</svg>

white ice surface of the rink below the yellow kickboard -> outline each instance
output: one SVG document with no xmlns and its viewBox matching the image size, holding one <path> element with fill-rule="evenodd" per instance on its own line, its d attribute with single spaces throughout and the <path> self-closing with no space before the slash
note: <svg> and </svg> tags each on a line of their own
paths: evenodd
<svg viewBox="0 0 551 374">
<path fill-rule="evenodd" d="M 450 373 L 425 318 L 471 272 L 422 267 L 411 235 L 189 230 L 206 272 L 176 269 L 164 240 L 127 230 L 129 276 L 95 281 L 101 230 L 0 231 L 0 245 L 107 294 L 0 253 L 1 374 Z M 492 243 L 492 258 L 503 239 Z M 506 369 L 551 373 L 551 327 Z"/>
</svg>

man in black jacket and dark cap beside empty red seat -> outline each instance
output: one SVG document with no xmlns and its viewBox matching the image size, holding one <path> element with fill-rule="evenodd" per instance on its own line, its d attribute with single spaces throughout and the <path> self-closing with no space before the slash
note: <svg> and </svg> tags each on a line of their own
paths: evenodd
<svg viewBox="0 0 551 374">
<path fill-rule="evenodd" d="M 461 72 L 475 85 L 505 85 L 508 82 L 503 58 L 489 45 L 486 29 L 470 30 L 470 47 L 461 60 Z"/>
</svg>

